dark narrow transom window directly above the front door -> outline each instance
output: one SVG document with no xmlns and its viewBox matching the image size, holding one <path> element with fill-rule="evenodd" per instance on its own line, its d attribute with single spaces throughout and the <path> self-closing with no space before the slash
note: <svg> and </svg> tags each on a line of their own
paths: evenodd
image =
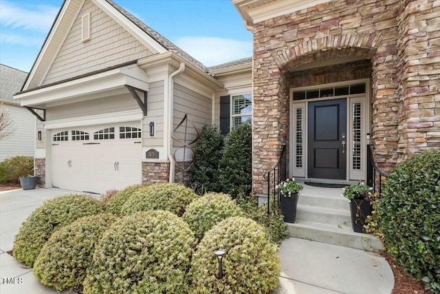
<svg viewBox="0 0 440 294">
<path fill-rule="evenodd" d="M 364 94 L 366 92 L 365 83 L 353 85 L 342 85 L 336 87 L 322 87 L 318 89 L 294 91 L 294 100 L 325 98 L 333 96 L 345 96 L 353 94 Z"/>
</svg>

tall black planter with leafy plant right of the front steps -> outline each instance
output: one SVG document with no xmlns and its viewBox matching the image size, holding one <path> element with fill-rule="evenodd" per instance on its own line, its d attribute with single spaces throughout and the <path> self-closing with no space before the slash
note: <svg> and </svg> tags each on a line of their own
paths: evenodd
<svg viewBox="0 0 440 294">
<path fill-rule="evenodd" d="M 364 182 L 342 188 L 342 196 L 350 201 L 351 225 L 353 231 L 364 232 L 364 224 L 367 216 L 371 216 L 371 202 L 375 194 L 373 188 L 366 186 Z"/>
</svg>

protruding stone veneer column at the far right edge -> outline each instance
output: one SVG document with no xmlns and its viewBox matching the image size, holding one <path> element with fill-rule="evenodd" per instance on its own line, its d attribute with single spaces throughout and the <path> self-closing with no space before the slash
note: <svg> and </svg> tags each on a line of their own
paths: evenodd
<svg viewBox="0 0 440 294">
<path fill-rule="evenodd" d="M 399 154 L 440 147 L 440 1 L 401 1 Z"/>
</svg>

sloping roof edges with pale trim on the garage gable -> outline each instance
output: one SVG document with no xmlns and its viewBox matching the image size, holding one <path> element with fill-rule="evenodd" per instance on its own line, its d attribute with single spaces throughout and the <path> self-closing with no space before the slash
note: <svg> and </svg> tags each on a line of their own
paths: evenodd
<svg viewBox="0 0 440 294">
<path fill-rule="evenodd" d="M 155 54 L 173 51 L 192 65 L 195 65 L 201 71 L 207 72 L 207 67 L 205 65 L 184 52 L 184 50 L 181 50 L 177 45 L 148 27 L 148 25 L 134 17 L 131 13 L 127 12 L 124 8 L 121 8 L 113 1 L 90 1 L 93 1 L 96 5 L 102 8 L 102 10 L 106 11 L 113 19 L 118 19 L 118 21 L 127 25 L 135 38 L 139 39 L 139 41 L 144 44 L 148 43 L 151 45 L 151 50 L 152 52 L 155 52 Z M 65 41 L 65 37 L 69 33 L 70 28 L 72 28 L 72 23 L 76 17 L 78 17 L 78 13 L 80 12 L 83 3 L 85 3 L 85 1 L 63 1 L 63 5 L 46 36 L 43 46 L 32 65 L 30 73 L 23 83 L 23 87 L 21 87 L 21 91 L 31 90 L 41 85 L 44 76 L 54 62 L 54 58 L 56 57 L 59 48 Z"/>
</svg>

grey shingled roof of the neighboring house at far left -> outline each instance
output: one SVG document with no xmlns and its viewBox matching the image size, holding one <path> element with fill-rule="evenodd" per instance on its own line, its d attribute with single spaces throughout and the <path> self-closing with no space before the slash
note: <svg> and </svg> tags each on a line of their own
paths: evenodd
<svg viewBox="0 0 440 294">
<path fill-rule="evenodd" d="M 27 75 L 27 72 L 0 64 L 0 102 L 7 101 L 8 103 L 18 104 L 12 96 L 19 92 Z"/>
</svg>

